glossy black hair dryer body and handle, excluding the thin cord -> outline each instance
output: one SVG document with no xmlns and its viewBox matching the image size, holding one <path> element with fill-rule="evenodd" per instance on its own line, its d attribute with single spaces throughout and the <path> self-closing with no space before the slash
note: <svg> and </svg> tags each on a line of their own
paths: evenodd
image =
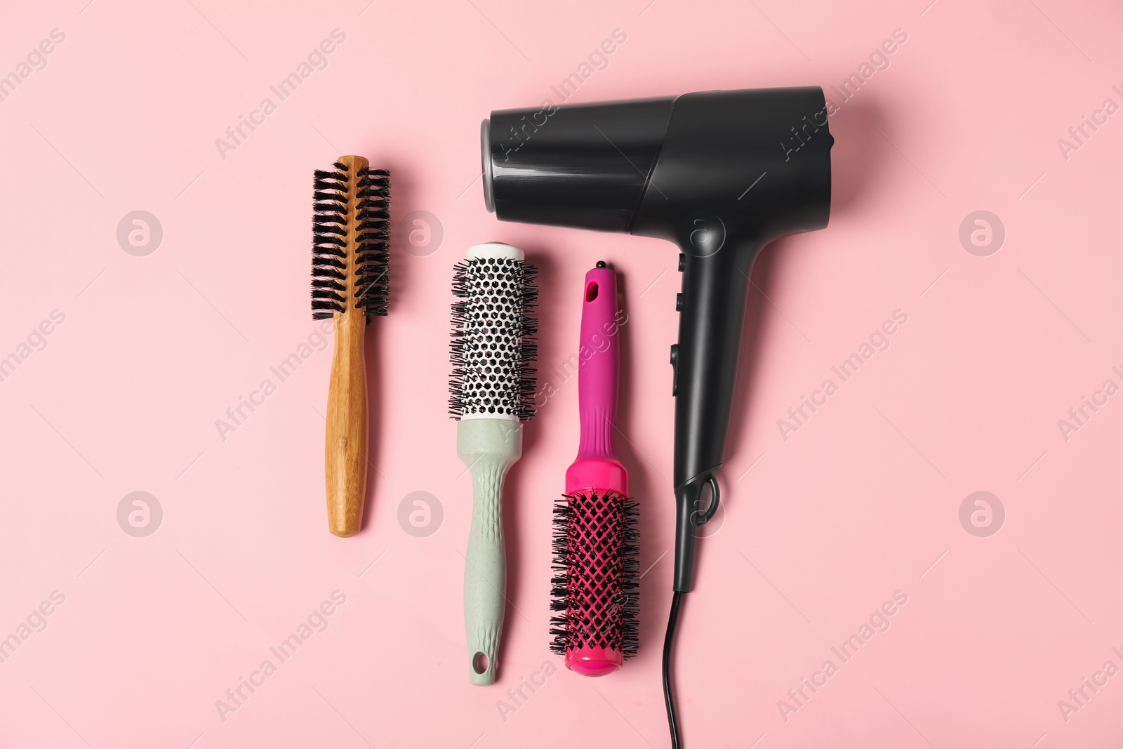
<svg viewBox="0 0 1123 749">
<path fill-rule="evenodd" d="M 696 527 L 718 509 L 752 262 L 773 239 L 827 226 L 833 138 L 823 91 L 509 109 L 484 120 L 482 140 L 484 199 L 499 219 L 661 237 L 683 250 L 670 363 L 674 590 L 686 593 Z"/>
</svg>

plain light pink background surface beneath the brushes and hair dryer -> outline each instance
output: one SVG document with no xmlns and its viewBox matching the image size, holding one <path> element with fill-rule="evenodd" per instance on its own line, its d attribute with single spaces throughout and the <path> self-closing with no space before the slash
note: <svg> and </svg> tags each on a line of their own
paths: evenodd
<svg viewBox="0 0 1123 749">
<path fill-rule="evenodd" d="M 0 664 L 0 746 L 667 746 L 677 250 L 499 223 L 476 180 L 480 120 L 558 103 L 550 86 L 613 29 L 627 42 L 573 101 L 828 88 L 894 29 L 907 34 L 831 117 L 830 226 L 777 243 L 752 274 L 725 510 L 701 545 L 679 636 L 686 745 L 1119 745 L 1123 676 L 1067 721 L 1058 701 L 1104 661 L 1123 667 L 1112 651 L 1123 650 L 1123 401 L 1067 441 L 1057 422 L 1105 380 L 1123 384 L 1111 368 L 1123 368 L 1123 259 L 1110 218 L 1123 116 L 1067 159 L 1057 140 L 1105 99 L 1123 104 L 1112 90 L 1123 11 L 648 2 L 6 8 L 0 74 L 52 29 L 65 40 L 0 101 L 0 356 L 18 357 L 53 310 L 65 321 L 0 383 L 0 637 L 53 591 L 65 602 Z M 327 68 L 223 159 L 214 140 L 336 28 L 346 40 Z M 395 219 L 424 210 L 444 227 L 429 255 L 398 237 L 390 317 L 367 339 L 376 472 L 366 527 L 347 540 L 328 535 L 323 506 L 329 353 L 225 440 L 214 424 L 264 378 L 277 384 L 270 367 L 314 330 L 310 177 L 340 153 L 393 170 Z M 143 257 L 116 236 L 134 210 L 164 232 Z M 1006 231 L 987 257 L 958 237 L 976 210 Z M 576 348 L 585 271 L 603 258 L 621 272 L 621 449 L 650 567 L 640 655 L 595 682 L 553 674 L 519 703 L 506 691 L 559 663 L 547 651 L 549 520 L 576 449 L 576 384 L 529 424 L 508 481 L 501 678 L 469 687 L 449 281 L 469 245 L 492 239 L 542 266 L 544 377 Z M 895 310 L 907 323 L 889 348 L 785 440 L 777 420 Z M 163 508 L 145 538 L 117 521 L 134 491 Z M 987 538 L 959 520 L 976 491 L 1005 508 Z M 428 537 L 398 520 L 413 492 L 444 509 Z M 223 721 L 216 701 L 264 659 L 276 665 L 268 648 L 337 590 L 346 603 L 327 630 Z M 895 591 L 907 604 L 892 627 L 840 665 L 831 648 Z M 785 721 L 777 701 L 827 659 L 838 673 Z"/>
</svg>

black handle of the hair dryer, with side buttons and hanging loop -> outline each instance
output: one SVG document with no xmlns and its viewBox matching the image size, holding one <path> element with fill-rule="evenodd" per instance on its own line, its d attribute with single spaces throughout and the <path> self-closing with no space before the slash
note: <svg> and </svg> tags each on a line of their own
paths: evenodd
<svg viewBox="0 0 1123 749">
<path fill-rule="evenodd" d="M 675 382 L 675 590 L 691 590 L 697 527 L 718 509 L 714 472 L 721 466 L 737 380 L 749 272 L 759 245 L 731 243 L 723 232 L 681 237 L 683 295 Z M 710 505 L 702 511 L 702 490 Z"/>
</svg>

